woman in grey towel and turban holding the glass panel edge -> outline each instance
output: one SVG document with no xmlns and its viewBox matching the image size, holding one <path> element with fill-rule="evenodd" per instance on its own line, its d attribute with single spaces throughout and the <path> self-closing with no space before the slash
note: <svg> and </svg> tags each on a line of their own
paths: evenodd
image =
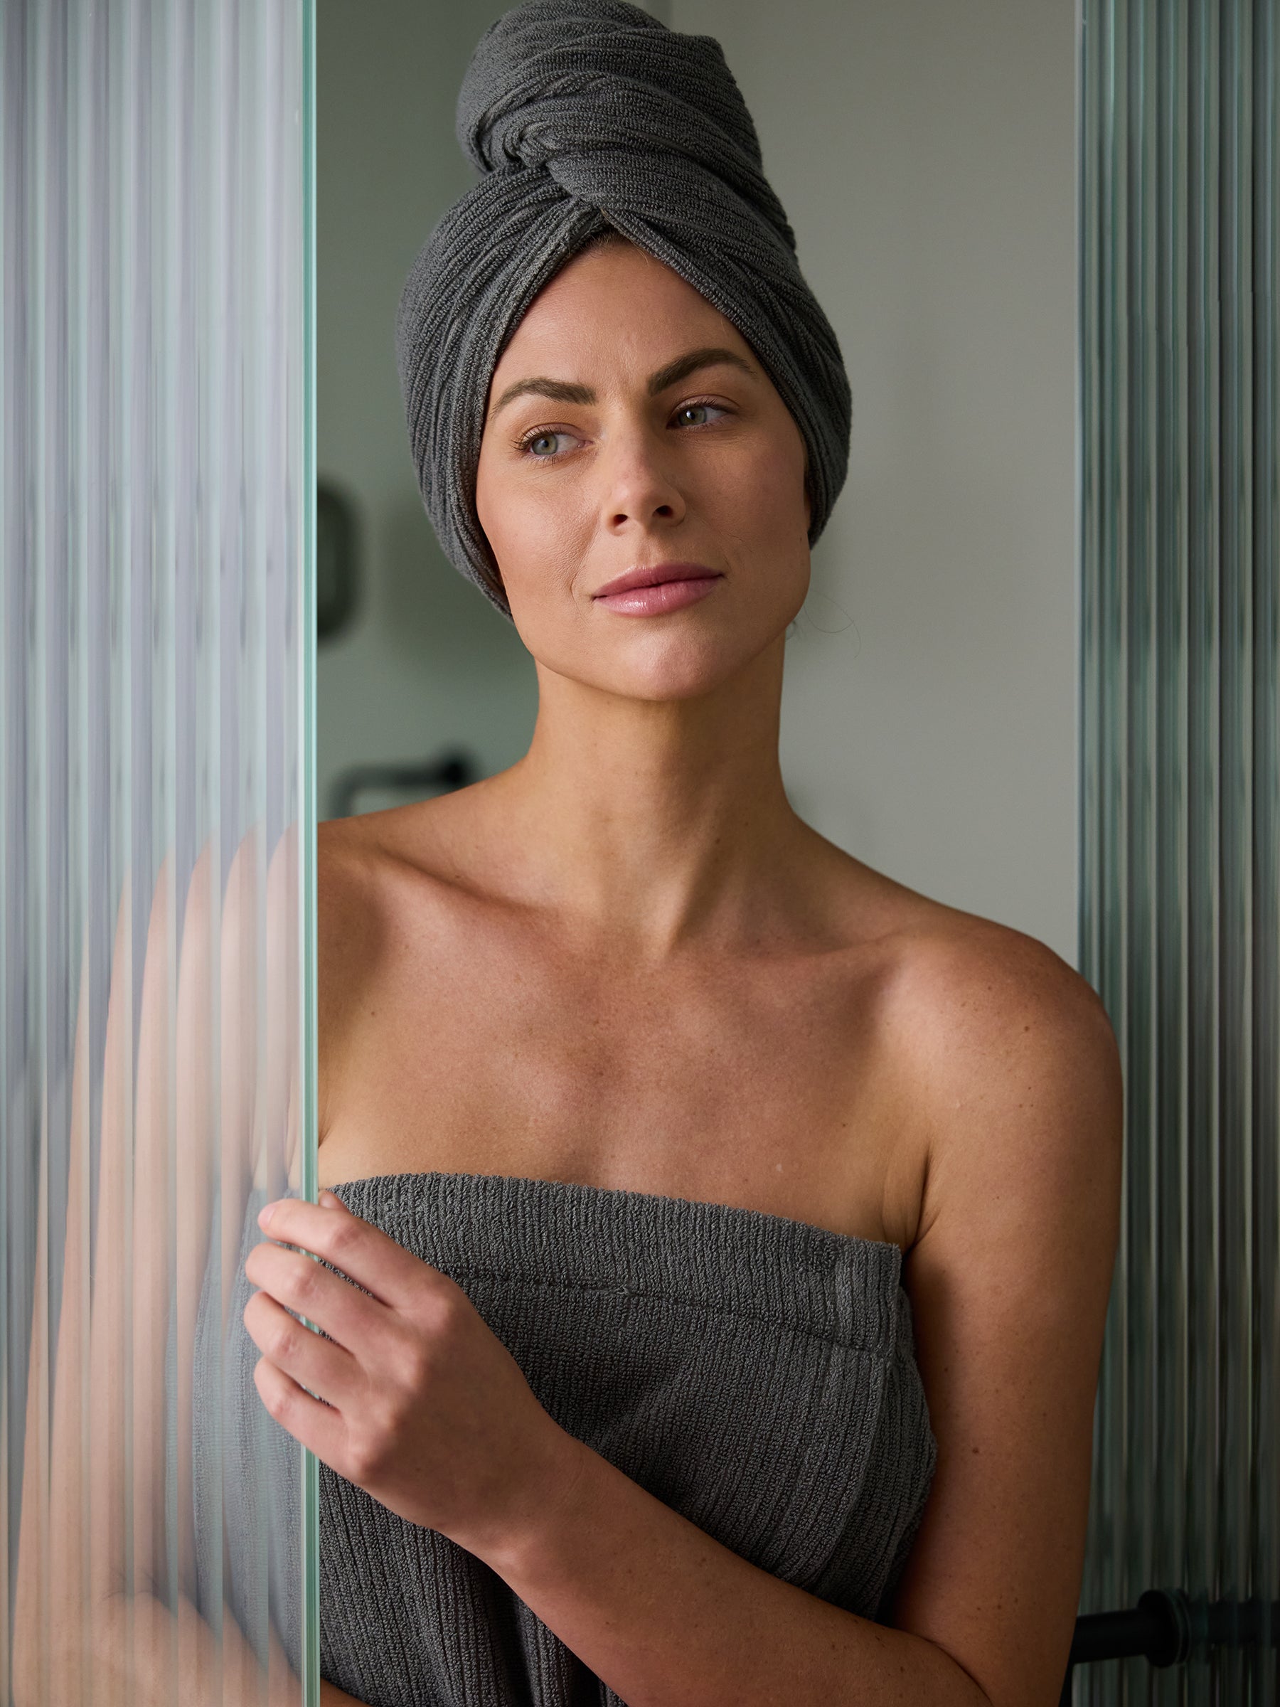
<svg viewBox="0 0 1280 1707">
<path fill-rule="evenodd" d="M 1051 1707 L 1114 1036 L 790 809 L 847 387 L 719 48 L 527 5 L 459 125 L 410 430 L 539 707 L 510 770 L 321 828 L 328 1191 L 244 1326 L 323 1459 L 328 1695 Z"/>
</svg>

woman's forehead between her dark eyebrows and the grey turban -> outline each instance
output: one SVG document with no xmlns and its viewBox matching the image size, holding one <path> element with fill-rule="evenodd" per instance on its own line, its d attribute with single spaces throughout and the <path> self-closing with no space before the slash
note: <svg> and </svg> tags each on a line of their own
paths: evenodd
<svg viewBox="0 0 1280 1707">
<path fill-rule="evenodd" d="M 698 345 L 754 357 L 742 335 L 707 297 L 662 261 L 631 244 L 591 249 L 543 287 L 493 370 L 492 394 L 529 374 L 589 379 L 647 377 Z"/>
</svg>

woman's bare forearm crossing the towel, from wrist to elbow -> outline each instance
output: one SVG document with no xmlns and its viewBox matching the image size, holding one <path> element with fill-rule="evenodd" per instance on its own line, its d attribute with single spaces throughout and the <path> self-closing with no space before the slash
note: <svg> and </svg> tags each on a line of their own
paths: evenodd
<svg viewBox="0 0 1280 1707">
<path fill-rule="evenodd" d="M 759 1570 L 565 1441 L 560 1502 L 480 1557 L 628 1707 L 990 1707 L 934 1642 Z"/>
</svg>

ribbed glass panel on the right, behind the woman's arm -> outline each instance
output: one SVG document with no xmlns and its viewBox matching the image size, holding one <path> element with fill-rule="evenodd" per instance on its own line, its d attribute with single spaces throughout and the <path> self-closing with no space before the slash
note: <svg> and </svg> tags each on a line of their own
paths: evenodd
<svg viewBox="0 0 1280 1707">
<path fill-rule="evenodd" d="M 1280 7 L 1082 0 L 1080 968 L 1126 1081 L 1077 1702 L 1277 1702 Z"/>
</svg>

